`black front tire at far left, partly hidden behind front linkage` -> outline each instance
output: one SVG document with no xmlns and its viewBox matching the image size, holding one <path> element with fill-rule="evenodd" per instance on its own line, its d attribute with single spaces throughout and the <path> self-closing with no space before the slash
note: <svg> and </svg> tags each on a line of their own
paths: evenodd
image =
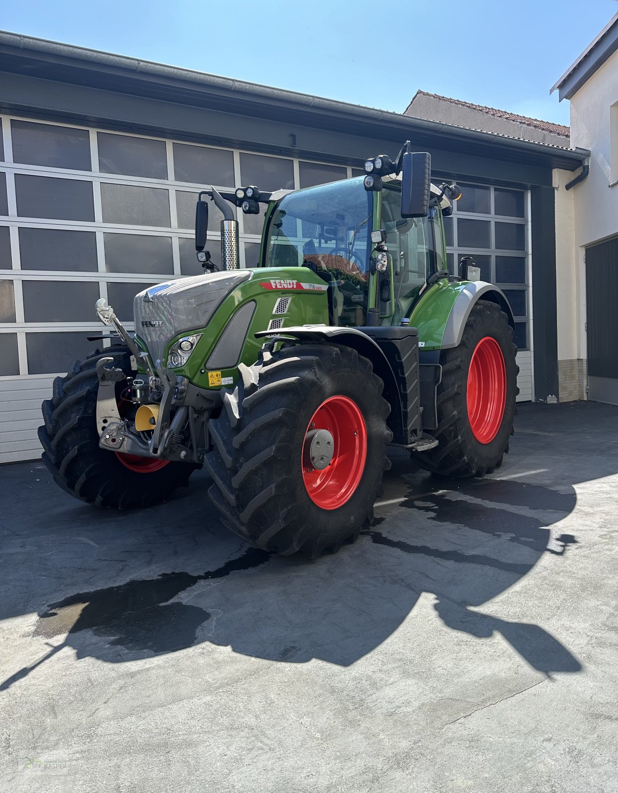
<svg viewBox="0 0 618 793">
<path fill-rule="evenodd" d="M 95 351 L 85 361 L 75 362 L 66 377 L 54 380 L 52 399 L 42 405 L 42 459 L 56 484 L 86 504 L 117 509 L 150 507 L 186 486 L 196 466 L 170 462 L 152 473 L 135 473 L 98 445 L 96 367 L 99 358 L 109 357 L 114 366 L 131 371 L 129 350 L 116 346 Z M 117 384 L 117 397 L 124 387 L 125 383 Z"/>
</svg>

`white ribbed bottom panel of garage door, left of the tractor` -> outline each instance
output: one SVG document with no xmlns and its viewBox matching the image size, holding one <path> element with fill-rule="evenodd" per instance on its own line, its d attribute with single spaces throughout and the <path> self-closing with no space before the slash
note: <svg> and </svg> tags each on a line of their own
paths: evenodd
<svg viewBox="0 0 618 793">
<path fill-rule="evenodd" d="M 40 403 L 52 396 L 53 377 L 15 377 L 0 381 L 0 463 L 36 460 L 41 448 L 36 430 Z"/>
</svg>

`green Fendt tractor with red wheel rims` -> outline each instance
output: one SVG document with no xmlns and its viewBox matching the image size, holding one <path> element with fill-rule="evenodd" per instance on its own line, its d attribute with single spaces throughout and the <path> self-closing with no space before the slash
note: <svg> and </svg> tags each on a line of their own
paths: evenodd
<svg viewBox="0 0 618 793">
<path fill-rule="evenodd" d="M 205 465 L 232 531 L 314 558 L 372 519 L 389 446 L 451 477 L 501 465 L 514 323 L 473 262 L 448 272 L 443 216 L 459 188 L 432 185 L 430 155 L 409 142 L 365 171 L 305 190 L 200 193 L 205 274 L 136 295 L 134 337 L 99 300 L 111 346 L 56 377 L 43 403 L 43 460 L 60 487 L 147 507 Z M 204 250 L 206 198 L 224 218 L 218 265 Z M 232 207 L 261 205 L 259 266 L 241 270 Z"/>
</svg>

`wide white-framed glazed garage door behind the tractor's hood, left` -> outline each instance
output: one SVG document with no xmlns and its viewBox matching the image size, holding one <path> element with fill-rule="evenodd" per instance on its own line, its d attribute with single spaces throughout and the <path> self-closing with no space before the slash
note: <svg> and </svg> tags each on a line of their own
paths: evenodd
<svg viewBox="0 0 618 793">
<path fill-rule="evenodd" d="M 132 328 L 148 285 L 202 273 L 195 201 L 204 184 L 264 190 L 351 176 L 347 166 L 0 116 L 0 462 L 40 456 L 41 400 L 93 349 L 106 297 Z M 209 239 L 221 215 L 211 209 Z M 241 265 L 262 218 L 240 216 Z M 104 345 L 107 342 L 104 342 Z"/>
</svg>

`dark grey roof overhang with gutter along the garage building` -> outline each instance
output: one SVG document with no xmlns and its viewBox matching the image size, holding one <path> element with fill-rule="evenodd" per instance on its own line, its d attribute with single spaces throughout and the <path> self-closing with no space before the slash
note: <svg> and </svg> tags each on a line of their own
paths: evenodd
<svg viewBox="0 0 618 793">
<path fill-rule="evenodd" d="M 332 132 L 374 136 L 397 146 L 444 148 L 478 156 L 575 170 L 589 151 L 424 121 L 401 113 L 166 66 L 0 31 L 0 71 L 94 89 L 194 105 Z"/>
</svg>

